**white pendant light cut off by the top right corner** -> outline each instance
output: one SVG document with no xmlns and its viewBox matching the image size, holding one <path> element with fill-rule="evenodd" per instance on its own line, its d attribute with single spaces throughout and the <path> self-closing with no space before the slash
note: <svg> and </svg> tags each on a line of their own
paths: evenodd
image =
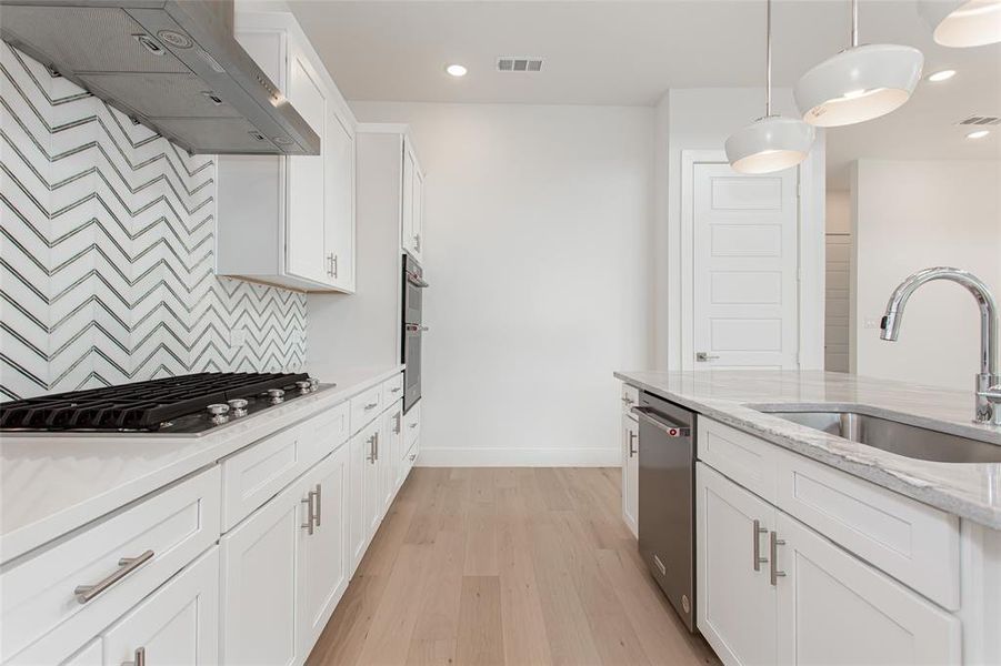
<svg viewBox="0 0 1001 666">
<path fill-rule="evenodd" d="M 918 7 L 943 47 L 1001 42 L 1001 0 L 921 0 Z"/>
</svg>

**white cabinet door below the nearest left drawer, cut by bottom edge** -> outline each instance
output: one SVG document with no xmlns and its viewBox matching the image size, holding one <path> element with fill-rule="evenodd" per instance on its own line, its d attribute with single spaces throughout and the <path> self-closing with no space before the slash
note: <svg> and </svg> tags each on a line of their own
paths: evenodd
<svg viewBox="0 0 1001 666">
<path fill-rule="evenodd" d="M 219 663 L 219 548 L 212 546 L 104 633 L 104 664 Z"/>
</svg>

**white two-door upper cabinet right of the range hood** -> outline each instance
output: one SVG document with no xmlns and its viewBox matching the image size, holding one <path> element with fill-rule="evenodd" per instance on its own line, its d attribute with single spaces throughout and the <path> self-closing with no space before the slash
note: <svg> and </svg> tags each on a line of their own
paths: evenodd
<svg viewBox="0 0 1001 666">
<path fill-rule="evenodd" d="M 319 155 L 220 155 L 217 272 L 354 291 L 354 130 L 291 13 L 238 11 L 237 39 L 320 137 Z"/>
</svg>

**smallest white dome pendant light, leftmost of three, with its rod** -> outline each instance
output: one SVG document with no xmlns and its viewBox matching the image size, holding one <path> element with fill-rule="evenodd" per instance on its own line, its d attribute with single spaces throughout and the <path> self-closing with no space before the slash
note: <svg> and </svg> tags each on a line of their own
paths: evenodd
<svg viewBox="0 0 1001 666">
<path fill-rule="evenodd" d="M 768 0 L 765 34 L 764 117 L 727 139 L 727 159 L 741 173 L 771 173 L 794 167 L 807 158 L 815 134 L 801 120 L 772 115 L 772 3 Z"/>
</svg>

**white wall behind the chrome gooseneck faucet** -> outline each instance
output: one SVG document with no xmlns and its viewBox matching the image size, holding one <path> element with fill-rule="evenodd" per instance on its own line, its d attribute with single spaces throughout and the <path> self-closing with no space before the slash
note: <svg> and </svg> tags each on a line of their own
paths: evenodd
<svg viewBox="0 0 1001 666">
<path fill-rule="evenodd" d="M 908 303 L 895 343 L 879 339 L 893 289 L 934 265 L 973 272 L 1001 295 L 1001 162 L 859 161 L 852 173 L 858 374 L 972 390 L 980 327 L 961 286 L 937 282 Z"/>
</svg>

